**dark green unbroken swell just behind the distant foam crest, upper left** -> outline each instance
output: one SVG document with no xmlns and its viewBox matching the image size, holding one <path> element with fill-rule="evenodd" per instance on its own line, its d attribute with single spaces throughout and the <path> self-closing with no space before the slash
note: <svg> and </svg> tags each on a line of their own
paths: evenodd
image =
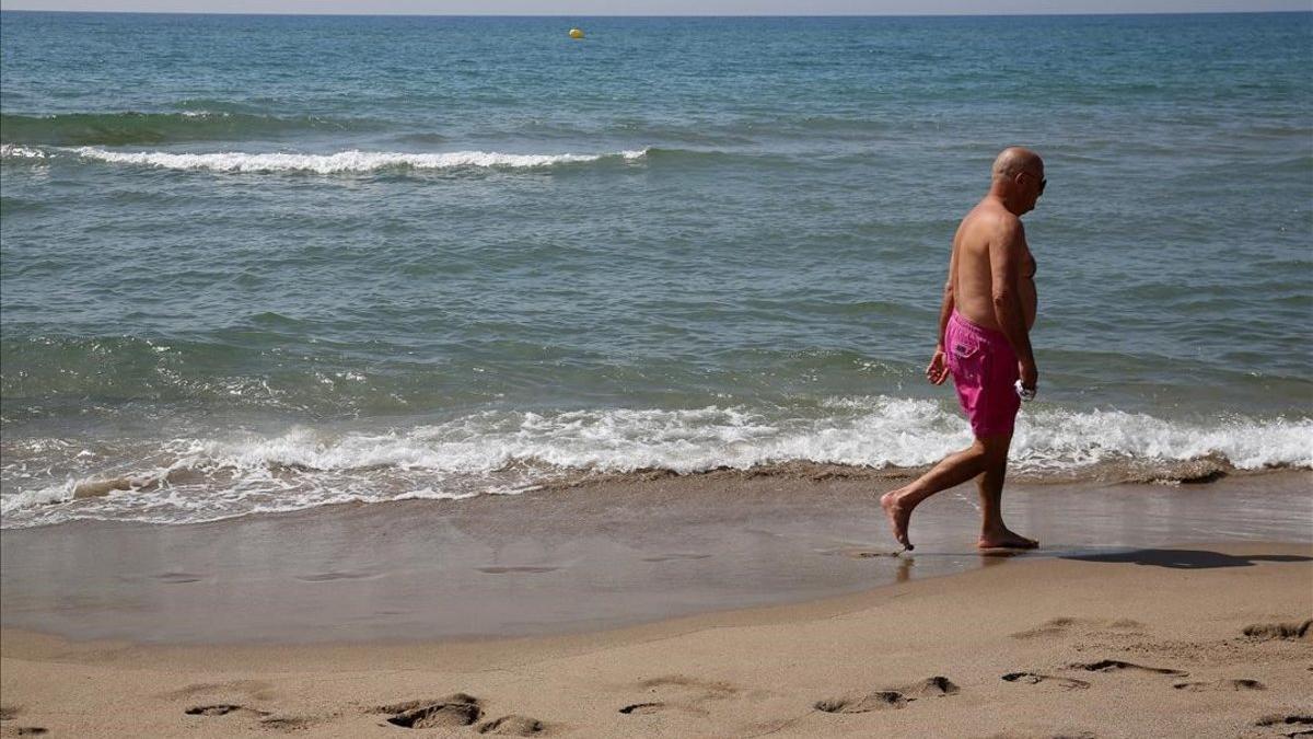
<svg viewBox="0 0 1313 739">
<path fill-rule="evenodd" d="M 343 131 L 372 128 L 362 120 L 316 116 L 264 116 L 225 110 L 180 113 L 58 113 L 54 116 L 0 114 L 5 143 L 46 146 L 122 146 L 197 141 L 278 138 L 310 130 Z"/>
</svg>

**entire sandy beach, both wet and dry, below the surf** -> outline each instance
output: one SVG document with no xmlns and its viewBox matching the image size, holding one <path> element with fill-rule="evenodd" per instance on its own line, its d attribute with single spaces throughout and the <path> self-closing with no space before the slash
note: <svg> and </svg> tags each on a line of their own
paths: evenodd
<svg viewBox="0 0 1313 739">
<path fill-rule="evenodd" d="M 519 512 L 496 525 L 474 500 L 192 527 L 5 531 L 3 727 L 101 736 L 383 736 L 406 735 L 406 725 L 448 736 L 1296 736 L 1313 731 L 1308 483 L 1299 472 L 1077 493 L 1023 487 L 1012 515 L 1052 542 L 1024 556 L 970 552 L 965 489 L 927 504 L 914 523 L 914 559 L 886 556 L 885 533 L 856 508 L 869 480 L 743 476 L 490 501 Z M 800 487 L 807 494 L 772 493 Z M 751 505 L 733 513 L 714 505 L 730 493 Z M 617 515 L 630 494 L 651 502 L 646 522 Z M 1249 498 L 1272 509 L 1259 508 L 1247 523 L 1220 518 Z M 1060 523 L 1078 505 L 1083 535 L 1077 522 Z M 561 515 L 542 515 L 549 508 Z M 700 527 L 691 523 L 700 517 Z M 836 527 L 844 518 L 850 530 Z M 1191 529 L 1163 535 L 1167 519 Z M 680 521 L 688 530 L 675 529 Z M 416 544 L 421 523 L 435 539 L 462 531 L 470 551 L 470 542 L 491 540 L 481 533 L 515 522 L 523 536 L 500 550 L 500 564 L 475 548 L 465 560 L 435 560 L 436 575 L 408 590 L 394 581 L 414 576 L 407 568 L 418 554 L 440 554 Z M 255 523 L 281 534 L 243 530 Z M 290 586 L 290 573 L 307 576 L 307 560 L 274 556 L 273 542 L 326 530 L 316 527 L 352 539 L 390 527 L 411 544 L 395 550 L 377 538 L 376 546 L 404 577 L 366 572 L 345 548 L 336 569 L 324 561 L 318 579 Z M 865 538 L 856 536 L 863 527 Z M 168 535 L 180 530 L 200 554 L 160 572 L 160 560 L 177 554 Z M 108 547 L 116 531 L 138 547 L 68 556 L 71 542 Z M 64 542 L 62 567 L 14 556 L 38 535 L 47 554 Z M 684 550 L 670 551 L 679 536 Z M 247 565 L 265 558 L 265 567 L 234 580 L 213 543 L 223 538 L 246 551 Z M 538 542 L 536 560 L 525 555 L 528 540 Z M 566 556 L 579 551 L 562 550 L 566 540 L 593 556 Z M 53 583 L 45 590 L 25 575 L 33 567 Z M 852 577 L 861 567 L 867 576 Z M 667 575 L 654 577 L 662 568 Z M 462 569 L 475 576 L 457 577 Z M 583 575 L 550 580 L 571 569 Z M 775 580 L 763 580 L 765 571 Z M 735 577 L 755 588 L 735 589 Z M 773 598 L 789 602 L 754 605 L 747 594 L 789 581 Z M 311 585 L 332 597 L 307 594 Z M 416 596 L 429 586 L 445 600 Z M 699 589 L 713 594 L 697 598 Z M 110 592 L 118 600 L 106 600 Z M 609 609 L 607 592 L 632 608 Z M 418 613 L 374 614 L 406 593 Z M 597 618 L 571 615 L 588 601 L 599 604 Z M 439 615 L 442 602 L 495 627 L 456 635 Z M 204 609 L 210 618 L 197 617 Z M 667 615 L 681 610 L 692 613 Z M 418 622 L 429 617 L 436 636 L 423 638 Z M 299 639 L 289 636 L 297 622 L 311 626 Z M 614 626 L 625 622 L 638 623 Z"/>
</svg>

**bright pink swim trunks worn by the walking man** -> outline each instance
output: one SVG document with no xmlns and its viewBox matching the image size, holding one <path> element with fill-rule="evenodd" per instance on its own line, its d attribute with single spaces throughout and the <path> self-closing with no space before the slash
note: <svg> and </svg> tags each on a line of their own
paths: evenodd
<svg viewBox="0 0 1313 739">
<path fill-rule="evenodd" d="M 1007 337 L 977 326 L 955 310 L 944 331 L 944 351 L 972 433 L 977 438 L 1011 434 L 1022 398 L 1014 387 L 1020 377 L 1016 354 Z"/>
</svg>

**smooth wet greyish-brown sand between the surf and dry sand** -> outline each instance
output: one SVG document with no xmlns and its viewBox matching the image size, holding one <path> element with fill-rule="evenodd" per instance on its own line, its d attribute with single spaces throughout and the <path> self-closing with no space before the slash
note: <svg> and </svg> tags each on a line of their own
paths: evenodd
<svg viewBox="0 0 1313 739">
<path fill-rule="evenodd" d="M 74 639 L 344 642 L 614 629 L 802 602 L 998 563 L 974 488 L 918 509 L 898 554 L 874 498 L 901 480 L 713 473 L 205 525 L 0 535 L 0 619 Z M 1203 485 L 1019 485 L 1020 559 L 1163 542 L 1310 542 L 1313 475 Z"/>
</svg>

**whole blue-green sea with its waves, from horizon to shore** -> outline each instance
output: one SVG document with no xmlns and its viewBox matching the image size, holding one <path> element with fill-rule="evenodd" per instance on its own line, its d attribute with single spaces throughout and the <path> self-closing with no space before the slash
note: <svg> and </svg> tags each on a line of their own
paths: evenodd
<svg viewBox="0 0 1313 739">
<path fill-rule="evenodd" d="M 934 462 L 1014 143 L 1018 472 L 1313 467 L 1313 13 L 0 20 L 5 527 Z"/>
</svg>

